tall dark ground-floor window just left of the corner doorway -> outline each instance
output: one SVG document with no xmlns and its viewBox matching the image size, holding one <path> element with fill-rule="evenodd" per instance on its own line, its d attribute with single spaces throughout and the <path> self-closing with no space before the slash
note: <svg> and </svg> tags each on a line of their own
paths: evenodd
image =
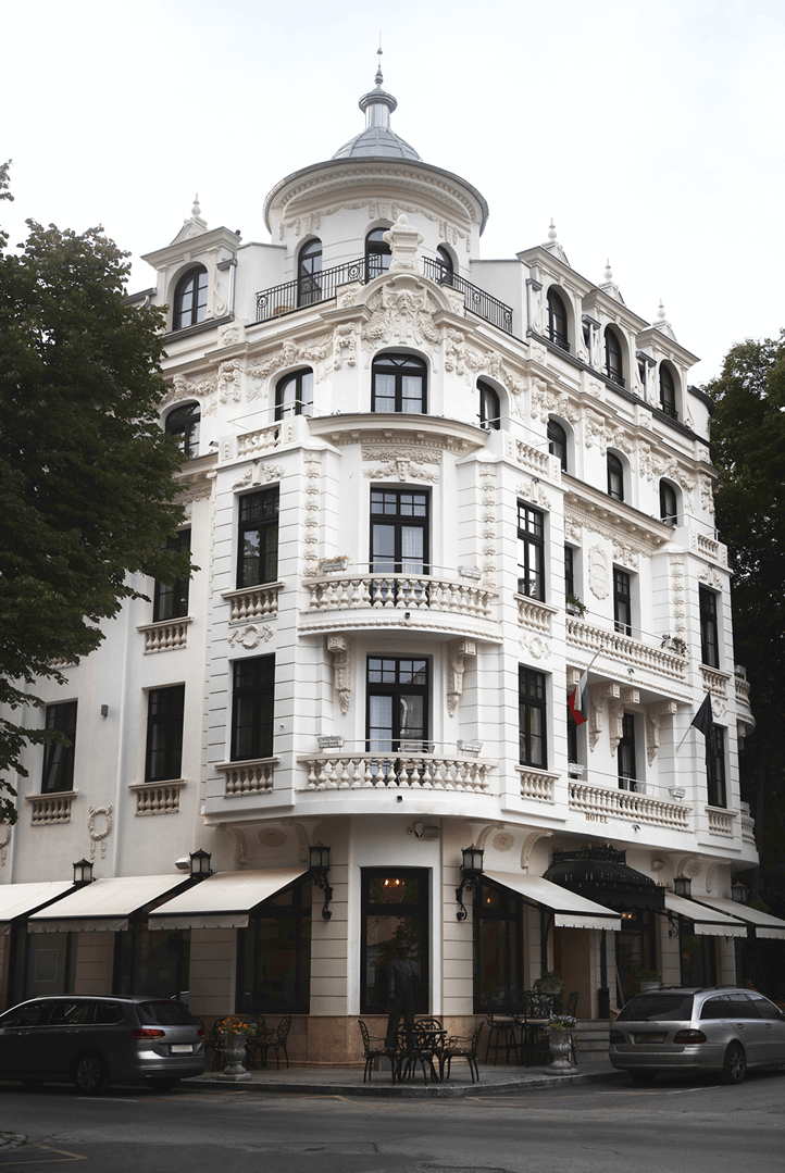
<svg viewBox="0 0 785 1173">
<path fill-rule="evenodd" d="M 237 934 L 237 1009 L 303 1013 L 311 998 L 310 880 L 259 904 Z"/>
</svg>

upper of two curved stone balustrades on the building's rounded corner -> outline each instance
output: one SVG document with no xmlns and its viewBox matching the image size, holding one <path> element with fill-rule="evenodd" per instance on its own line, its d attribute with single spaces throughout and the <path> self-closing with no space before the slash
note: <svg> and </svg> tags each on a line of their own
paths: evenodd
<svg viewBox="0 0 785 1173">
<path fill-rule="evenodd" d="M 453 611 L 474 619 L 492 618 L 499 591 L 476 581 L 435 575 L 336 574 L 305 582 L 309 611 L 363 608 L 398 611 Z"/>
</svg>

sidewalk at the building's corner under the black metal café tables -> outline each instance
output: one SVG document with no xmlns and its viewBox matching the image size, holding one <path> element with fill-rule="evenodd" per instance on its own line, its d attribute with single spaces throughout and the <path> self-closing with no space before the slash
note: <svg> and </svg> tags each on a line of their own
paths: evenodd
<svg viewBox="0 0 785 1173">
<path fill-rule="evenodd" d="M 370 1096 L 394 1099 L 422 1099 L 426 1097 L 454 1098 L 496 1092 L 520 1092 L 532 1087 L 554 1087 L 564 1084 L 586 1083 L 600 1079 L 623 1079 L 624 1073 L 611 1067 L 607 1058 L 593 1059 L 573 1067 L 571 1074 L 551 1074 L 548 1067 L 514 1067 L 480 1064 L 480 1083 L 472 1084 L 468 1064 L 454 1063 L 449 1082 L 427 1084 L 420 1073 L 417 1079 L 393 1085 L 390 1071 L 374 1071 L 371 1083 L 363 1083 L 363 1067 L 286 1067 L 276 1071 L 275 1065 L 250 1071 L 250 1079 L 222 1078 L 218 1072 L 207 1071 L 194 1079 L 183 1079 L 181 1087 L 192 1090 L 230 1087 L 246 1092 L 290 1092 L 298 1096 Z"/>
</svg>

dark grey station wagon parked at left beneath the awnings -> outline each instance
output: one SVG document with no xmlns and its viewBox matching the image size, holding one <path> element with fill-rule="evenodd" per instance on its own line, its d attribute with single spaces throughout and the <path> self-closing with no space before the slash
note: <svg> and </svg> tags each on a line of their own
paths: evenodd
<svg viewBox="0 0 785 1173">
<path fill-rule="evenodd" d="M 49 997 L 0 1015 L 0 1079 L 26 1087 L 70 1079 L 95 1096 L 111 1082 L 169 1091 L 205 1067 L 204 1030 L 182 1002 Z"/>
</svg>

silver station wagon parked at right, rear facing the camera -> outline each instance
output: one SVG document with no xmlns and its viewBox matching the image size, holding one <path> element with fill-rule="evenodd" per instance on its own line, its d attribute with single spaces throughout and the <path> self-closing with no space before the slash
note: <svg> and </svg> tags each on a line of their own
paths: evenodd
<svg viewBox="0 0 785 1173">
<path fill-rule="evenodd" d="M 610 1032 L 609 1058 L 639 1084 L 657 1072 L 718 1071 L 740 1084 L 747 1067 L 785 1064 L 785 1015 L 754 990 L 665 986 L 625 1004 Z"/>
</svg>

